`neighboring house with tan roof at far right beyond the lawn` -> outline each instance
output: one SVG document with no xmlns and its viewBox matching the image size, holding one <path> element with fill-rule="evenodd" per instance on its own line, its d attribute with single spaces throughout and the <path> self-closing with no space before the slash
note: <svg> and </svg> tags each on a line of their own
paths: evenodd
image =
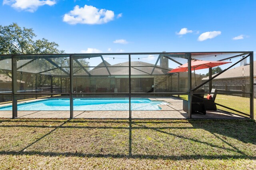
<svg viewBox="0 0 256 170">
<path fill-rule="evenodd" d="M 256 83 L 256 61 L 254 61 L 254 84 Z M 216 74 L 212 75 L 215 76 Z M 202 78 L 202 81 L 208 80 L 209 77 Z M 213 88 L 221 90 L 238 90 L 250 91 L 250 64 L 241 63 L 241 66 L 226 70 L 212 80 Z"/>
</svg>

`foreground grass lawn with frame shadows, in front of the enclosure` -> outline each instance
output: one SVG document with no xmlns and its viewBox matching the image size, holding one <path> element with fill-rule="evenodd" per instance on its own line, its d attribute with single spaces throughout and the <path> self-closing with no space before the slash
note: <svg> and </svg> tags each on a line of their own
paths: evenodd
<svg viewBox="0 0 256 170">
<path fill-rule="evenodd" d="M 0 169 L 256 169 L 252 120 L 0 119 Z"/>
</svg>

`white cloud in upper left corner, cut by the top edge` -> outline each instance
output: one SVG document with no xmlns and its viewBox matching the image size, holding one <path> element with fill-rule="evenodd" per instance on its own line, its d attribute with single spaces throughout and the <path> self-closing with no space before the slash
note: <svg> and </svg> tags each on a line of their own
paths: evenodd
<svg viewBox="0 0 256 170">
<path fill-rule="evenodd" d="M 10 5 L 17 10 L 35 12 L 39 6 L 56 4 L 55 0 L 4 0 L 3 5 Z"/>
</svg>

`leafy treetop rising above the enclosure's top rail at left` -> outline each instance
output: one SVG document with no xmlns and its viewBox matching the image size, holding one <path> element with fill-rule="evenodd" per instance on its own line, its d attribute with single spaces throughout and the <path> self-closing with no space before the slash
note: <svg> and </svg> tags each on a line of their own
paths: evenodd
<svg viewBox="0 0 256 170">
<path fill-rule="evenodd" d="M 17 23 L 0 25 L 0 54 L 60 54 L 59 45 L 47 39 L 34 40 L 32 28 L 21 28 Z"/>
</svg>

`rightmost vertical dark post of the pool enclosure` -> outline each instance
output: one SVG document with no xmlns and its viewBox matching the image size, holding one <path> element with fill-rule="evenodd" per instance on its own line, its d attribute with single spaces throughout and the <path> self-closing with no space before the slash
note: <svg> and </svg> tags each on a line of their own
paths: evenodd
<svg viewBox="0 0 256 170">
<path fill-rule="evenodd" d="M 250 118 L 254 119 L 254 92 L 253 92 L 253 53 L 250 53 Z"/>
</svg>

